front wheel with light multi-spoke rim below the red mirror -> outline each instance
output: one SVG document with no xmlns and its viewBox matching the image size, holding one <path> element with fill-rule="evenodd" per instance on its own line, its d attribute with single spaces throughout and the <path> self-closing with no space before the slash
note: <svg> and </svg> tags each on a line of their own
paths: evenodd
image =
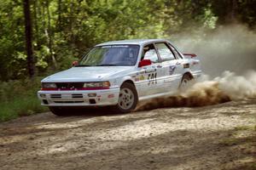
<svg viewBox="0 0 256 170">
<path fill-rule="evenodd" d="M 119 92 L 119 102 L 112 107 L 115 113 L 129 113 L 137 106 L 137 90 L 129 82 L 123 83 Z"/>
</svg>

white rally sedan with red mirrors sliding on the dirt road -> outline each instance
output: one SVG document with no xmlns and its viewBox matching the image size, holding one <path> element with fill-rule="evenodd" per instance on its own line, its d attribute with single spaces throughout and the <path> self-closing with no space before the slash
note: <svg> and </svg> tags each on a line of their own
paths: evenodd
<svg viewBox="0 0 256 170">
<path fill-rule="evenodd" d="M 72 68 L 44 78 L 38 98 L 58 116 L 78 106 L 111 105 L 126 113 L 139 100 L 175 94 L 200 76 L 198 57 L 181 54 L 169 41 L 104 42 Z"/>
</svg>

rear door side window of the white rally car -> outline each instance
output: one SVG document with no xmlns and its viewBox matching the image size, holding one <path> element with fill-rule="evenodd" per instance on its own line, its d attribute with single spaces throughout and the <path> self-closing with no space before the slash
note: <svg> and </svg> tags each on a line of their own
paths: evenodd
<svg viewBox="0 0 256 170">
<path fill-rule="evenodd" d="M 166 43 L 156 43 L 155 46 L 158 49 L 162 61 L 175 59 L 171 49 L 168 48 Z"/>
</svg>

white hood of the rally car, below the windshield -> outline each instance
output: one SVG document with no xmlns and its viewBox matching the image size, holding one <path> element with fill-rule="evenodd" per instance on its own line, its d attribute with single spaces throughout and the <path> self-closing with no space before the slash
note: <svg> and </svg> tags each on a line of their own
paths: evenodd
<svg viewBox="0 0 256 170">
<path fill-rule="evenodd" d="M 73 67 L 67 71 L 55 73 L 42 82 L 93 82 L 105 81 L 119 73 L 132 70 L 133 66 L 90 66 Z"/>
</svg>

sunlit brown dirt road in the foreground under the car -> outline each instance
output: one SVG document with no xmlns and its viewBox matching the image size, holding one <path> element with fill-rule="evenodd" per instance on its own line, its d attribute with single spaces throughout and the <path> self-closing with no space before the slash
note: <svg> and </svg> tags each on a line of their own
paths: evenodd
<svg viewBox="0 0 256 170">
<path fill-rule="evenodd" d="M 256 100 L 0 124 L 0 169 L 256 169 Z"/>
</svg>

